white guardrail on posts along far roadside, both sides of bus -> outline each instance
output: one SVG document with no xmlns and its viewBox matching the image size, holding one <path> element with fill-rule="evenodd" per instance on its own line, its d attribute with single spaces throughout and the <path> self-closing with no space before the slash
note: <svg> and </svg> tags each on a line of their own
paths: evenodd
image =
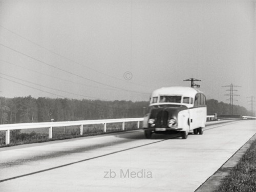
<svg viewBox="0 0 256 192">
<path fill-rule="evenodd" d="M 244 119 L 256 119 L 256 117 L 243 116 Z M 83 133 L 83 125 L 104 124 L 103 132 L 106 132 L 106 123 L 122 123 L 122 130 L 125 130 L 125 122 L 136 122 L 137 127 L 140 127 L 141 118 L 125 118 L 125 119 L 100 119 L 100 120 L 84 120 L 84 121 L 59 121 L 59 122 L 42 122 L 42 123 L 16 123 L 16 124 L 1 124 L 0 131 L 5 131 L 6 145 L 10 144 L 10 130 L 24 130 L 36 128 L 49 128 L 49 139 L 52 138 L 52 127 L 61 126 L 80 126 L 80 135 Z M 215 115 L 207 115 L 207 120 L 215 120 Z"/>
</svg>

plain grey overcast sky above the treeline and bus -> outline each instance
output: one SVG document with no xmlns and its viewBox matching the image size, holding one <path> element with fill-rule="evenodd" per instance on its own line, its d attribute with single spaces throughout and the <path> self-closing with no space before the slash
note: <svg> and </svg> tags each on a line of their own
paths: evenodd
<svg viewBox="0 0 256 192">
<path fill-rule="evenodd" d="M 140 101 L 193 77 L 249 109 L 255 18 L 253 0 L 0 0 L 0 95 Z"/>
</svg>

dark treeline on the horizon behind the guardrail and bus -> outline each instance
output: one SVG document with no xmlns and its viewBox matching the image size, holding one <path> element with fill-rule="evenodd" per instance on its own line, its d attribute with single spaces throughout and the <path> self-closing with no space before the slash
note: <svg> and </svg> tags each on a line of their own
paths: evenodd
<svg viewBox="0 0 256 192">
<path fill-rule="evenodd" d="M 1 124 L 76 121 L 90 119 L 112 119 L 143 117 L 147 112 L 147 101 L 101 101 L 77 99 L 52 99 L 0 97 Z M 207 100 L 207 114 L 229 114 L 229 104 L 215 99 Z M 239 105 L 233 106 L 234 115 L 249 115 L 248 111 Z"/>
</svg>

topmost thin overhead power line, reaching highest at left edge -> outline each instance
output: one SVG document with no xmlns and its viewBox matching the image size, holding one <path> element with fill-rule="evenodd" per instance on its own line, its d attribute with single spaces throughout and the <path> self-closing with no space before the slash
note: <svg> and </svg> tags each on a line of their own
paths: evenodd
<svg viewBox="0 0 256 192">
<path fill-rule="evenodd" d="M 126 83 L 131 83 L 131 84 L 135 84 L 135 85 L 138 85 L 138 86 L 146 87 L 146 86 L 144 86 L 144 85 L 142 85 L 142 84 L 134 83 L 134 82 L 131 82 L 131 81 L 125 81 L 125 80 L 123 80 L 123 79 L 120 79 L 120 78 L 111 76 L 111 75 L 109 75 L 109 74 L 106 74 L 106 73 L 103 73 L 103 72 L 101 72 L 101 71 L 95 70 L 95 69 L 90 68 L 90 67 L 88 67 L 88 66 L 84 66 L 84 65 L 82 65 L 82 64 L 79 63 L 79 62 L 76 62 L 76 61 L 74 61 L 74 60 L 72 60 L 72 59 L 70 59 L 70 58 L 68 58 L 68 57 L 65 57 L 65 56 L 63 56 L 63 55 L 60 55 L 59 53 L 56 53 L 56 52 L 54 52 L 54 51 L 52 51 L 52 50 L 50 50 L 50 49 L 47 49 L 46 47 L 41 46 L 41 45 L 37 44 L 36 42 L 34 42 L 34 41 L 32 41 L 32 40 L 30 40 L 30 39 L 28 39 L 28 38 L 26 38 L 26 37 L 24 37 L 24 36 L 22 36 L 22 35 L 19 35 L 18 33 L 14 32 L 14 31 L 11 31 L 10 29 L 7 29 L 6 27 L 4 27 L 4 26 L 2 26 L 2 25 L 0 25 L 0 27 L 2 27 L 3 29 L 5 29 L 5 30 L 7 30 L 7 31 L 9 31 L 9 32 L 11 32 L 11 33 L 13 33 L 13 34 L 15 34 L 16 36 L 18 36 L 18 37 L 20 37 L 20 38 L 23 38 L 23 39 L 25 39 L 25 40 L 31 42 L 32 44 L 34 44 L 34 45 L 36 45 L 36 46 L 38 46 L 38 47 L 40 47 L 40 48 L 42 48 L 42 49 L 45 49 L 45 50 L 47 50 L 47 51 L 49 51 L 49 52 L 51 52 L 51 53 L 53 53 L 53 54 L 55 54 L 55 55 L 57 55 L 57 56 L 59 56 L 59 57 L 61 57 L 61 58 L 64 58 L 64 59 L 66 59 L 66 60 L 68 60 L 68 61 L 70 61 L 70 62 L 73 62 L 73 63 L 75 63 L 76 65 L 79 65 L 79 66 L 82 66 L 82 67 L 84 67 L 84 68 L 90 69 L 90 70 L 92 70 L 92 71 L 95 71 L 95 72 L 97 72 L 97 73 L 100 73 L 100 74 L 105 75 L 105 76 L 108 76 L 108 77 L 111 77 L 111 78 L 113 78 L 113 79 L 117 79 L 117 80 L 120 80 L 120 81 L 123 81 L 123 82 L 126 82 Z"/>
</svg>

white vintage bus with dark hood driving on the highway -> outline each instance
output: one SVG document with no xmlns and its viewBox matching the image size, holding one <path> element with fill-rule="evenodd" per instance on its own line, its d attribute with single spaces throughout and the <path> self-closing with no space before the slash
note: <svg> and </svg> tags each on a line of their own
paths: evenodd
<svg viewBox="0 0 256 192">
<path fill-rule="evenodd" d="M 150 113 L 144 118 L 146 138 L 153 133 L 181 133 L 186 139 L 188 132 L 203 134 L 206 123 L 206 97 L 194 88 L 168 87 L 155 90 L 150 97 Z"/>
</svg>

